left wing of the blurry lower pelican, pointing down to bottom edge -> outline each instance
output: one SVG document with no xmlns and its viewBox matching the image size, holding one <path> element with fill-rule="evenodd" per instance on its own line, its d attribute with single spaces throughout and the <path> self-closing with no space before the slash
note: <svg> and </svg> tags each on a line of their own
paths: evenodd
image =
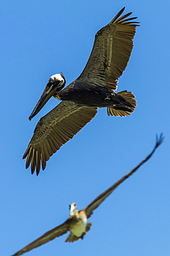
<svg viewBox="0 0 170 256">
<path fill-rule="evenodd" d="M 25 246 L 24 248 L 22 248 L 21 250 L 19 250 L 17 253 L 15 253 L 12 256 L 23 255 L 23 253 L 29 252 L 29 250 L 32 250 L 39 246 L 42 246 L 43 244 L 47 243 L 48 241 L 51 241 L 56 237 L 60 237 L 61 235 L 64 235 L 68 231 L 69 222 L 70 222 L 70 219 L 67 219 L 67 221 L 65 221 L 63 224 L 46 232 L 44 235 L 42 235 L 38 239 L 32 241 L 32 243 L 28 244 L 28 246 Z"/>
</svg>

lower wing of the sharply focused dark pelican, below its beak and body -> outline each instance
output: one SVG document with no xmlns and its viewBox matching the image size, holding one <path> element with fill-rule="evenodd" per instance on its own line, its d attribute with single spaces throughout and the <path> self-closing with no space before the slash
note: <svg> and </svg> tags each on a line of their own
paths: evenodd
<svg viewBox="0 0 170 256">
<path fill-rule="evenodd" d="M 92 120 L 96 112 L 95 107 L 84 107 L 71 101 L 62 101 L 43 116 L 36 125 L 23 155 L 23 158 L 27 157 L 26 168 L 31 163 L 32 174 L 36 169 L 38 175 L 41 165 L 44 170 L 50 156 Z"/>
</svg>

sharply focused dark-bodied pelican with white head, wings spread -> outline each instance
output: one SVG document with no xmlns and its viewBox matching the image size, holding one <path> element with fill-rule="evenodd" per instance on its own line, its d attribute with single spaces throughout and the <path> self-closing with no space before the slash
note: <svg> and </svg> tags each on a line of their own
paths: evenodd
<svg viewBox="0 0 170 256">
<path fill-rule="evenodd" d="M 34 129 L 34 135 L 23 155 L 26 168 L 39 175 L 50 156 L 67 143 L 97 113 L 98 107 L 107 107 L 110 116 L 129 116 L 136 107 L 135 96 L 129 91 L 115 92 L 117 79 L 127 66 L 133 48 L 137 17 L 132 12 L 120 17 L 125 7 L 112 21 L 96 33 L 92 53 L 81 75 L 65 89 L 65 77 L 55 74 L 45 87 L 29 120 L 38 113 L 52 96 L 62 100 L 43 116 Z M 63 90 L 62 90 L 63 89 Z"/>
</svg>

